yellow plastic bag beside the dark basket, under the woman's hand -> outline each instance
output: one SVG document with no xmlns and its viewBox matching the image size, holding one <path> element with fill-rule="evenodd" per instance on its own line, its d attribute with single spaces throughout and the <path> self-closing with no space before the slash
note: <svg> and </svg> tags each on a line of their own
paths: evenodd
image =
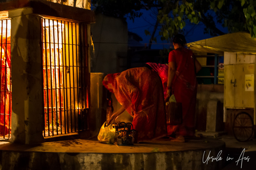
<svg viewBox="0 0 256 170">
<path fill-rule="evenodd" d="M 103 123 L 98 134 L 98 142 L 103 144 L 114 144 L 116 137 L 116 129 L 113 128 L 112 124 L 106 126 L 107 121 Z"/>
</svg>

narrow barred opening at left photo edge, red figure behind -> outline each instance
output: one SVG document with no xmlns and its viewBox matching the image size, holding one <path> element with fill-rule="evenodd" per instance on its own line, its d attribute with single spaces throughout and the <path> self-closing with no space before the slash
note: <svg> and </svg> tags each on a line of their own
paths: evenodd
<svg viewBox="0 0 256 170">
<path fill-rule="evenodd" d="M 11 19 L 0 20 L 0 135 L 10 139 L 11 134 Z"/>
</svg>

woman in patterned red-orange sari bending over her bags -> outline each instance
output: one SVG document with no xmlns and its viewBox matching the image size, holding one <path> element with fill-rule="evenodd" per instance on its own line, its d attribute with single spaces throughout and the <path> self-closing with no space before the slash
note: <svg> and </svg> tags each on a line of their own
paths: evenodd
<svg viewBox="0 0 256 170">
<path fill-rule="evenodd" d="M 102 83 L 122 105 L 108 124 L 126 110 L 133 117 L 138 142 L 167 135 L 163 86 L 158 73 L 146 67 L 131 68 L 108 74 Z"/>
</svg>

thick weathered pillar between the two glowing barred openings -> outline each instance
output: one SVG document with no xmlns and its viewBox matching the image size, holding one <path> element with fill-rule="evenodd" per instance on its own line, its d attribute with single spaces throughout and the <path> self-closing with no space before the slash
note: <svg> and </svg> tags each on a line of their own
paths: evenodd
<svg viewBox="0 0 256 170">
<path fill-rule="evenodd" d="M 32 8 L 9 11 L 11 18 L 11 141 L 44 142 L 41 21 Z"/>
</svg>

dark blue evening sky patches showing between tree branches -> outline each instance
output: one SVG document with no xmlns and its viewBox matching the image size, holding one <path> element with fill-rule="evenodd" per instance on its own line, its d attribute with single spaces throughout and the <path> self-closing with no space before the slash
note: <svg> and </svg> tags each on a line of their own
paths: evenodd
<svg viewBox="0 0 256 170">
<path fill-rule="evenodd" d="M 140 43 L 148 43 L 150 36 L 149 35 L 146 36 L 144 33 L 144 30 L 147 29 L 150 32 L 153 31 L 154 24 L 156 21 L 156 14 L 154 10 L 142 10 L 142 12 L 143 12 L 143 15 L 139 18 L 136 18 L 134 20 L 134 23 L 130 19 L 127 19 L 126 21 L 128 23 L 128 31 L 137 33 L 143 39 L 143 41 L 141 41 Z M 227 29 L 222 28 L 221 25 L 217 25 L 217 27 L 221 29 L 224 33 L 228 32 Z M 202 23 L 199 23 L 196 25 L 196 24 L 191 24 L 187 22 L 186 26 L 183 29 L 185 32 L 184 35 L 188 43 L 212 37 L 209 34 L 203 34 L 204 25 Z M 163 49 L 163 46 L 167 49 L 170 48 L 171 44 L 166 41 L 162 42 L 158 32 L 159 32 L 159 29 L 156 31 L 156 34 L 155 34 L 155 36 L 157 37 L 157 44 L 153 44 L 151 49 Z"/>
</svg>

